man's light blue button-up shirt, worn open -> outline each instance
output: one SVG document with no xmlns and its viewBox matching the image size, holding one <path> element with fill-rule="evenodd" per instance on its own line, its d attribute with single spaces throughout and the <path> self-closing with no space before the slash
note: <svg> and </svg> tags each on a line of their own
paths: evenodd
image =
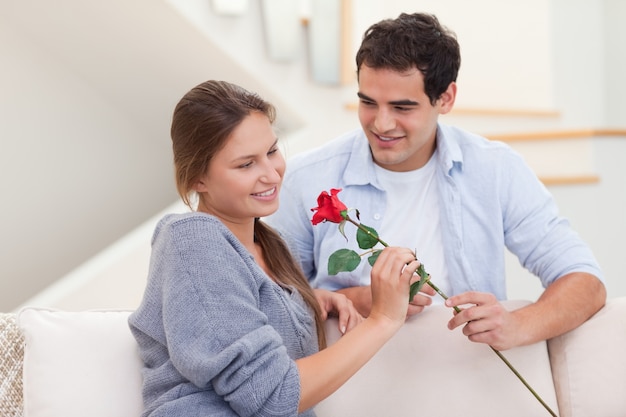
<svg viewBox="0 0 626 417">
<path fill-rule="evenodd" d="M 570 272 L 587 272 L 603 279 L 590 248 L 559 216 L 551 194 L 518 153 L 503 143 L 443 124 L 437 129 L 437 149 L 435 175 L 452 288 L 449 295 L 474 290 L 505 299 L 505 248 L 538 276 L 544 287 Z M 346 240 L 337 224 L 311 224 L 317 196 L 331 188 L 341 188 L 340 200 L 348 208 L 358 209 L 361 222 L 393 245 L 380 229 L 391 203 L 376 178 L 361 129 L 290 159 L 280 208 L 266 220 L 291 245 L 314 287 L 337 290 L 369 285 L 367 262 L 353 272 L 327 273 L 328 258 L 335 250 L 349 247 L 363 252 L 353 235 Z M 345 228 L 346 234 L 355 232 L 350 229 L 354 228 Z M 437 277 L 432 279 L 437 282 Z"/>
</svg>

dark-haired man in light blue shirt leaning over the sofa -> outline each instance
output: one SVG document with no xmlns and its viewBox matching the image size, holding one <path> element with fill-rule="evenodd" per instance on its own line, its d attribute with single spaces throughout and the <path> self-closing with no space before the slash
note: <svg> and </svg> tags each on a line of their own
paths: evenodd
<svg viewBox="0 0 626 417">
<path fill-rule="evenodd" d="M 268 221 L 292 242 L 314 286 L 343 292 L 366 316 L 369 265 L 328 275 L 331 253 L 359 250 L 336 224 L 310 222 L 317 195 L 341 188 L 341 201 L 359 210 L 363 224 L 415 249 L 451 295 L 447 306 L 463 306 L 450 329 L 463 326 L 470 340 L 504 350 L 580 325 L 604 305 L 606 290 L 591 250 L 522 158 L 438 122 L 454 105 L 460 61 L 455 35 L 434 16 L 401 14 L 371 26 L 356 56 L 362 129 L 294 157 Z M 513 312 L 499 303 L 505 248 L 545 287 Z M 431 304 L 432 289 L 422 291 L 408 315 Z"/>
</svg>

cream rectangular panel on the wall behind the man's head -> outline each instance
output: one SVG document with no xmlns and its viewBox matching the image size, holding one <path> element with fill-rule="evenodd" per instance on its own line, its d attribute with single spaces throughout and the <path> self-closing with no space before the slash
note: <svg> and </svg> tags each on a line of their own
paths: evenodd
<svg viewBox="0 0 626 417">
<path fill-rule="evenodd" d="M 366 3 L 367 7 L 363 7 Z M 457 106 L 554 110 L 549 0 L 358 0 L 354 50 L 365 29 L 400 13 L 427 12 L 461 46 Z"/>
</svg>

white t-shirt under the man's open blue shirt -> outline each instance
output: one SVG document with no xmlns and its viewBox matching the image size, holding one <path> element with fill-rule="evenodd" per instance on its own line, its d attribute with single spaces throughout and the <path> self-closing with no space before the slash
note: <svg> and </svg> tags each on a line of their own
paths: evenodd
<svg viewBox="0 0 626 417">
<path fill-rule="evenodd" d="M 439 225 L 439 192 L 435 180 L 436 156 L 422 168 L 389 171 L 376 165 L 376 174 L 387 192 L 387 208 L 380 237 L 390 246 L 413 249 L 431 280 L 449 294 L 448 270 Z M 436 295 L 433 303 L 443 303 Z"/>
</svg>

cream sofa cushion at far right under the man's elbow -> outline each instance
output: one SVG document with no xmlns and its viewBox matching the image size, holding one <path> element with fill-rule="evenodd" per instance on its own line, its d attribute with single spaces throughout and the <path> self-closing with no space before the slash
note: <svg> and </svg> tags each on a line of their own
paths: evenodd
<svg viewBox="0 0 626 417">
<path fill-rule="evenodd" d="M 561 417 L 626 415 L 626 297 L 548 342 Z"/>
</svg>

